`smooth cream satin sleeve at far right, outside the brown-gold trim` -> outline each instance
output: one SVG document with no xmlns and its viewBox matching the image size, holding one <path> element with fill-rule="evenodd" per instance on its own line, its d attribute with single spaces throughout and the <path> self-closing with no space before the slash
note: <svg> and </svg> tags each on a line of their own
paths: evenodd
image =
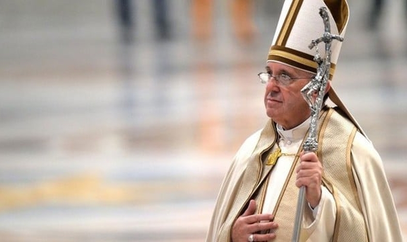
<svg viewBox="0 0 407 242">
<path fill-rule="evenodd" d="M 353 173 L 369 241 L 403 241 L 381 158 L 357 133 L 352 146 Z"/>
</svg>

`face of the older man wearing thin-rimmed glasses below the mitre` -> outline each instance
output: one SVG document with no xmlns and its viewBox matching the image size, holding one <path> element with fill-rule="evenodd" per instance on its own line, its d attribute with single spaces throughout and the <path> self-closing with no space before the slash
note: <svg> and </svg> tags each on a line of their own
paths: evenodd
<svg viewBox="0 0 407 242">
<path fill-rule="evenodd" d="M 272 77 L 267 83 L 264 98 L 267 116 L 282 125 L 284 129 L 294 128 L 310 117 L 311 111 L 301 95 L 301 89 L 313 75 L 277 62 L 268 62 L 266 71 L 271 76 L 284 74 L 293 78 L 306 77 L 295 79 L 287 86 Z"/>
</svg>

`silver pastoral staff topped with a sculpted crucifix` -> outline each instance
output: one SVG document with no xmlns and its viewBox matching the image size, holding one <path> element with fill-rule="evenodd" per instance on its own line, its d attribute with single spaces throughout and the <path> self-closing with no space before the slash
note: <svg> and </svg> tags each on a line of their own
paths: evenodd
<svg viewBox="0 0 407 242">
<path fill-rule="evenodd" d="M 313 40 L 308 46 L 310 49 L 315 47 L 316 53 L 314 56 L 314 61 L 317 63 L 316 76 L 302 88 L 301 94 L 307 101 L 311 109 L 311 123 L 310 131 L 308 132 L 308 137 L 303 144 L 303 150 L 305 152 L 316 152 L 318 149 L 317 132 L 318 132 L 318 116 L 321 111 L 325 90 L 327 89 L 327 84 L 329 80 L 329 69 L 330 69 L 330 58 L 331 58 L 331 42 L 333 40 L 344 41 L 344 38 L 330 33 L 329 15 L 326 7 L 321 7 L 319 9 L 319 15 L 321 15 L 325 32 L 322 37 Z M 318 44 L 325 43 L 325 57 L 322 58 L 319 54 Z M 317 94 L 316 98 L 314 94 Z M 305 186 L 301 186 L 299 189 L 298 200 L 297 200 L 297 212 L 294 221 L 294 230 L 292 242 L 299 241 L 299 235 L 301 230 L 302 216 L 304 212 L 305 204 Z"/>
</svg>

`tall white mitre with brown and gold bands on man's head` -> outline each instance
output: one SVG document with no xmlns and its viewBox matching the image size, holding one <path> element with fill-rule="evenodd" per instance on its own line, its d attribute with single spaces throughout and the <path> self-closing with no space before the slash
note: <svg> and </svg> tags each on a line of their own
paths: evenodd
<svg viewBox="0 0 407 242">
<path fill-rule="evenodd" d="M 328 10 L 331 33 L 344 37 L 349 19 L 346 0 L 285 0 L 267 61 L 282 62 L 316 73 L 315 47 L 310 49 L 308 46 L 325 32 L 324 21 L 319 15 L 321 7 Z M 332 41 L 329 79 L 333 77 L 341 46 L 342 42 Z M 323 42 L 319 53 L 325 56 Z"/>
</svg>

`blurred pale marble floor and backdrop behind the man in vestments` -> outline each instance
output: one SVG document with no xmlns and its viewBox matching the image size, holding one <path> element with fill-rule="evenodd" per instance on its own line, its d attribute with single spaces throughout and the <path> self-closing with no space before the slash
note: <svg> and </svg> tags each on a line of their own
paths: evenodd
<svg viewBox="0 0 407 242">
<path fill-rule="evenodd" d="M 203 241 L 282 3 L 0 1 L 0 240 Z M 333 85 L 406 235 L 407 2 L 349 4 Z"/>
</svg>

